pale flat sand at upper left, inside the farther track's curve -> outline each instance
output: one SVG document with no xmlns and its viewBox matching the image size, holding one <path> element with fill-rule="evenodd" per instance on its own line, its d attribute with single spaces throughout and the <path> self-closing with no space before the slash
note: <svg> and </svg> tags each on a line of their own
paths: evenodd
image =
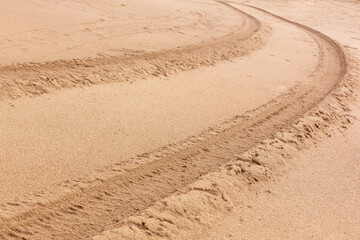
<svg viewBox="0 0 360 240">
<path fill-rule="evenodd" d="M 199 0 L 2 0 L 0 65 L 132 55 L 197 45 L 241 16 Z"/>
</svg>

